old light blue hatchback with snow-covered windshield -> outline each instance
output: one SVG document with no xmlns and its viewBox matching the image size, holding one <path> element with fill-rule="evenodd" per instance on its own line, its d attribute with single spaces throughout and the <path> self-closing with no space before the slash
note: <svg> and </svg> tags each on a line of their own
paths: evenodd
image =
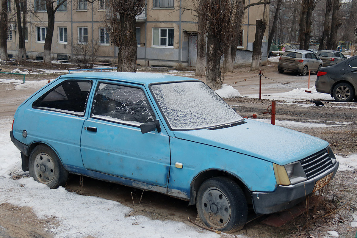
<svg viewBox="0 0 357 238">
<path fill-rule="evenodd" d="M 50 188 L 69 173 L 196 204 L 201 221 L 241 229 L 305 201 L 338 168 L 326 141 L 244 119 L 205 83 L 98 72 L 60 76 L 17 108 L 22 169 Z"/>
</svg>

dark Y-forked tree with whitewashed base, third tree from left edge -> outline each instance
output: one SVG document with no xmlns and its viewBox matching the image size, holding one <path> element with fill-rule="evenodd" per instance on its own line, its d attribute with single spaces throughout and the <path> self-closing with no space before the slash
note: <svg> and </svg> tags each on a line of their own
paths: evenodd
<svg viewBox="0 0 357 238">
<path fill-rule="evenodd" d="M 47 26 L 47 33 L 45 37 L 45 46 L 44 46 L 44 64 L 47 65 L 52 64 L 51 46 L 52 46 L 52 39 L 53 39 L 53 31 L 55 29 L 55 13 L 59 9 L 59 7 L 65 4 L 66 2 L 67 0 L 45 0 L 44 2 L 44 4 L 46 5 L 46 11 L 48 17 L 48 26 Z"/>
</svg>

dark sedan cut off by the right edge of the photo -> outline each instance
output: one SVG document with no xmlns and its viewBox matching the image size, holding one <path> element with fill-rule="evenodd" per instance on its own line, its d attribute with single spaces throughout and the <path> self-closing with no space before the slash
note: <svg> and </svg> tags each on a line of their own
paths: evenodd
<svg viewBox="0 0 357 238">
<path fill-rule="evenodd" d="M 317 92 L 328 93 L 338 102 L 357 98 L 357 56 L 322 67 L 317 73 L 315 87 Z"/>
</svg>

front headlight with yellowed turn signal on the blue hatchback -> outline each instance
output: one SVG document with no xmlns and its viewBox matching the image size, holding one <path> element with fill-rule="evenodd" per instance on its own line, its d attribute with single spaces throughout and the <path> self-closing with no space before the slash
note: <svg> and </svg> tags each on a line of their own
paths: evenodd
<svg viewBox="0 0 357 238">
<path fill-rule="evenodd" d="M 273 164 L 276 183 L 280 185 L 290 185 L 306 180 L 306 174 L 300 162 L 293 162 L 281 166 Z"/>
</svg>

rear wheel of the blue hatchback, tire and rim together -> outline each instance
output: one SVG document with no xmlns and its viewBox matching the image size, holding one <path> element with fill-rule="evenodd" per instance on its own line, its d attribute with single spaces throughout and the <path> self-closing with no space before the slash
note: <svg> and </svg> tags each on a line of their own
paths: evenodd
<svg viewBox="0 0 357 238">
<path fill-rule="evenodd" d="M 68 172 L 60 158 L 46 145 L 38 145 L 31 152 L 29 171 L 30 176 L 37 182 L 44 183 L 50 188 L 64 186 L 68 179 Z"/>
</svg>

